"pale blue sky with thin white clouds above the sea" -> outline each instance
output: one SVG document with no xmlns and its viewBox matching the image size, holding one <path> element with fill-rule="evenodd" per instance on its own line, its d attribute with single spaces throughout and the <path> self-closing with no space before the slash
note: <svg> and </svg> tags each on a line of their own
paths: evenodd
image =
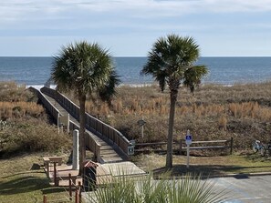
<svg viewBox="0 0 271 203">
<path fill-rule="evenodd" d="M 0 56 L 55 56 L 82 40 L 147 56 L 170 34 L 192 36 L 201 56 L 271 56 L 271 0 L 0 0 Z"/>
</svg>

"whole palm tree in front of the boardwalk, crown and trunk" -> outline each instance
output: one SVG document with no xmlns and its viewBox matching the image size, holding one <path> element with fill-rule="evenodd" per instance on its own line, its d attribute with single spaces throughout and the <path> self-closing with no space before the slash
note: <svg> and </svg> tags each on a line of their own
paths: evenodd
<svg viewBox="0 0 271 203">
<path fill-rule="evenodd" d="M 101 99 L 110 101 L 115 94 L 115 87 L 120 80 L 112 66 L 109 51 L 98 44 L 86 41 L 63 46 L 57 56 L 54 56 L 52 78 L 57 90 L 73 91 L 79 101 L 79 173 L 86 159 L 86 97 L 97 93 Z"/>
</svg>

